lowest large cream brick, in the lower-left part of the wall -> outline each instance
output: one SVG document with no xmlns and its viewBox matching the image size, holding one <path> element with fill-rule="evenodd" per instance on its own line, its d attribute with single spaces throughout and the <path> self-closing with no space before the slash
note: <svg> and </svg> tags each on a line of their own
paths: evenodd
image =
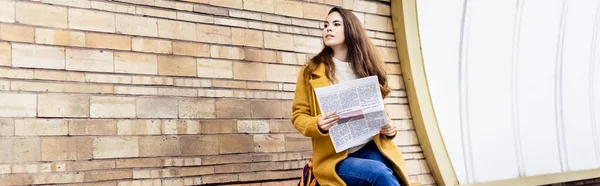
<svg viewBox="0 0 600 186">
<path fill-rule="evenodd" d="M 137 137 L 95 137 L 94 159 L 138 157 Z"/>
</svg>

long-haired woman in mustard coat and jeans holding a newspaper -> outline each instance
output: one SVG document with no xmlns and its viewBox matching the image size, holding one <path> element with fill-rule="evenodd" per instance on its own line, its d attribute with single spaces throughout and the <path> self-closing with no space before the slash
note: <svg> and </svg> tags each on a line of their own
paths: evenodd
<svg viewBox="0 0 600 186">
<path fill-rule="evenodd" d="M 375 47 L 356 16 L 345 9 L 329 11 L 323 28 L 324 49 L 302 67 L 292 105 L 292 123 L 312 138 L 313 172 L 320 185 L 409 185 L 404 159 L 392 139 L 397 129 L 388 124 L 362 145 L 336 153 L 329 129 L 335 113 L 319 113 L 314 89 L 357 78 L 379 79 L 383 97 L 390 93 L 386 72 Z"/>
</svg>

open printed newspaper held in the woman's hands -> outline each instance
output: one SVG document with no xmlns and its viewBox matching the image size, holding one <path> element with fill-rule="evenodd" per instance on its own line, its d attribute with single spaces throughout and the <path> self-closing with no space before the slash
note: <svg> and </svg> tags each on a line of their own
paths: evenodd
<svg viewBox="0 0 600 186">
<path fill-rule="evenodd" d="M 387 114 L 377 76 L 369 76 L 315 89 L 322 114 L 336 112 L 340 121 L 329 129 L 339 153 L 378 134 Z"/>
</svg>

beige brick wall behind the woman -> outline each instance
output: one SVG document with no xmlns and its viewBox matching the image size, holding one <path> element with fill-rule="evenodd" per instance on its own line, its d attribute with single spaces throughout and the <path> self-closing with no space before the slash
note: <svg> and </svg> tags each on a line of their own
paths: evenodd
<svg viewBox="0 0 600 186">
<path fill-rule="evenodd" d="M 389 0 L 1 0 L 0 185 L 296 179 L 300 66 L 332 6 L 353 9 L 390 72 L 410 179 L 419 147 Z M 289 184 L 289 182 L 288 182 Z"/>
</svg>

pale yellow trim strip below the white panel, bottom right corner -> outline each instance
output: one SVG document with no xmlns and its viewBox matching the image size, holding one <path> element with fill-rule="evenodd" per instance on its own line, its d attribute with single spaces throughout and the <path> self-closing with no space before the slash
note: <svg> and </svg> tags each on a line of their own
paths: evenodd
<svg viewBox="0 0 600 186">
<path fill-rule="evenodd" d="M 546 185 L 555 183 L 564 183 L 577 180 L 586 180 L 600 176 L 600 169 L 590 169 L 581 171 L 561 172 L 554 174 L 544 174 L 539 176 L 526 176 L 508 180 L 498 180 L 483 183 L 464 184 L 460 186 L 530 186 Z"/>
</svg>

